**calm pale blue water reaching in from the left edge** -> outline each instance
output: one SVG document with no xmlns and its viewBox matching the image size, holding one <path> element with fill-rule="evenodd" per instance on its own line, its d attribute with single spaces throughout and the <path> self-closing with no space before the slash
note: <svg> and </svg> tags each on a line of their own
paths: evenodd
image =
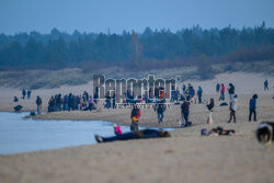
<svg viewBox="0 0 274 183">
<path fill-rule="evenodd" d="M 0 155 L 92 145 L 95 134 L 114 136 L 112 123 L 24 118 L 28 114 L 0 112 Z M 130 130 L 128 126 L 121 129 Z"/>
</svg>

